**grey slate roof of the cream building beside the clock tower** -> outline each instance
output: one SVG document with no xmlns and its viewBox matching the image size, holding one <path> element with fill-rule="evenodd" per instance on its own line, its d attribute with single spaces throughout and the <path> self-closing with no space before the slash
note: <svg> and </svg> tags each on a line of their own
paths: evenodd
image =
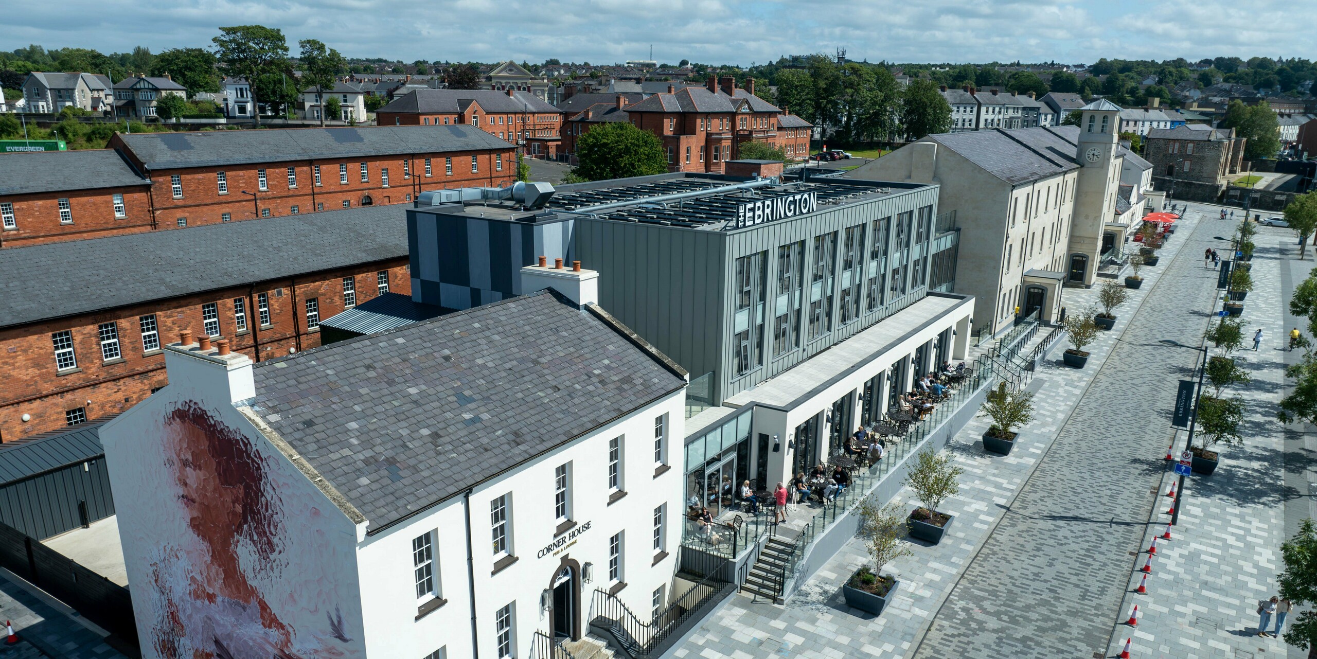
<svg viewBox="0 0 1317 659">
<path fill-rule="evenodd" d="M 1022 128 L 939 133 L 928 138 L 1015 186 L 1079 169 L 1075 145 L 1062 134 L 1048 128 Z"/>
</svg>

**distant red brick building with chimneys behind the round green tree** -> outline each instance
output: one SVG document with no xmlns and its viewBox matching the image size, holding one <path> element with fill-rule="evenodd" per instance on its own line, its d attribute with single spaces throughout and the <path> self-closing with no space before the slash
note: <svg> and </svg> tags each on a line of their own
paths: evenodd
<svg viewBox="0 0 1317 659">
<path fill-rule="evenodd" d="M 705 87 L 655 94 L 639 103 L 619 95 L 612 104 L 597 103 L 566 117 L 562 149 L 576 152 L 576 140 L 590 127 L 630 121 L 662 141 L 670 171 L 723 173 L 727 161 L 740 158 L 740 145 L 751 141 L 781 148 L 789 159 L 810 152 L 811 125 L 755 96 L 755 79 L 738 88 L 731 76 L 709 78 Z"/>
</svg>

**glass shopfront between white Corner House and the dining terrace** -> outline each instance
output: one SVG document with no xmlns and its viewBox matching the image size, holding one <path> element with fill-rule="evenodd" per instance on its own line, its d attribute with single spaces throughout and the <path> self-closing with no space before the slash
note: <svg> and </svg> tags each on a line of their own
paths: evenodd
<svg viewBox="0 0 1317 659">
<path fill-rule="evenodd" d="M 687 509 L 707 506 L 720 515 L 736 505 L 741 482 L 756 476 L 751 473 L 751 414 L 745 410 L 686 442 Z"/>
</svg>

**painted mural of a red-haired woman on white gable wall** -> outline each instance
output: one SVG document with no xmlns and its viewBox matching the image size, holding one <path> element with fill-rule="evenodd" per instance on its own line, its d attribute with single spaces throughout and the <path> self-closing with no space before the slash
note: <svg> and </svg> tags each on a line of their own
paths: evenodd
<svg viewBox="0 0 1317 659">
<path fill-rule="evenodd" d="M 341 612 L 348 608 L 349 619 L 360 619 L 352 616 L 356 588 L 338 596 L 335 584 L 350 567 L 335 565 L 341 560 L 331 548 L 336 544 L 333 521 L 321 514 L 307 488 L 298 488 L 286 465 L 262 455 L 242 432 L 195 402 L 175 405 L 161 430 L 158 485 L 169 493 L 157 501 L 169 510 L 153 514 L 161 515 L 162 529 L 178 531 L 158 531 L 161 542 L 150 543 L 148 571 L 154 588 L 148 608 L 153 619 L 142 639 L 144 654 L 163 659 L 362 656 L 361 633 L 345 629 Z M 295 550 L 284 544 L 286 538 L 299 539 Z M 319 546 L 303 547 L 308 542 Z"/>
</svg>

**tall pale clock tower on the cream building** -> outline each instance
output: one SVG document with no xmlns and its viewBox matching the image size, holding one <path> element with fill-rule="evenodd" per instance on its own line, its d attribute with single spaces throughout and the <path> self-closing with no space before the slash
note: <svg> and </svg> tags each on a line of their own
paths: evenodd
<svg viewBox="0 0 1317 659">
<path fill-rule="evenodd" d="M 1121 108 L 1097 99 L 1080 108 L 1075 162 L 1075 215 L 1071 219 L 1068 283 L 1092 286 L 1101 258 L 1102 232 L 1115 211 L 1119 165 L 1115 159 Z"/>
</svg>

